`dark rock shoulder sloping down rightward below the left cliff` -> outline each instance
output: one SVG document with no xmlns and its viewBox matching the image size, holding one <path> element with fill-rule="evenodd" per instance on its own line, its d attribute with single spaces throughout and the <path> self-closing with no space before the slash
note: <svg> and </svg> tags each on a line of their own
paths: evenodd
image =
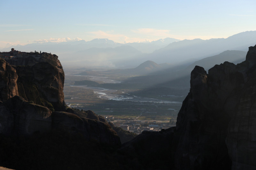
<svg viewBox="0 0 256 170">
<path fill-rule="evenodd" d="M 82 115 L 83 112 L 79 114 Z M 53 112 L 52 129 L 71 134 L 80 133 L 87 140 L 95 140 L 104 144 L 121 144 L 116 131 L 108 123 L 101 122 L 97 119 L 89 119 L 86 116 L 86 114 L 79 117 L 76 114 L 68 112 Z"/>
</svg>

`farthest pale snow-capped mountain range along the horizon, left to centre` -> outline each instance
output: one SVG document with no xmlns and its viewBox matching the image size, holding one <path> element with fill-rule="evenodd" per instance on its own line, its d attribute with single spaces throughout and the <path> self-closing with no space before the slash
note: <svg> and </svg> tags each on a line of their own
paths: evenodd
<svg viewBox="0 0 256 170">
<path fill-rule="evenodd" d="M 91 41 L 68 41 L 68 42 L 44 42 L 31 43 L 27 45 L 16 45 L 1 49 L 2 51 L 10 51 L 11 48 L 17 48 L 19 51 L 49 51 L 53 54 L 74 53 L 89 48 L 116 48 L 119 46 L 132 46 L 142 53 L 152 53 L 156 49 L 163 48 L 172 42 L 180 41 L 174 38 L 159 39 L 151 42 L 133 42 L 133 43 L 117 43 L 109 39 L 93 39 Z"/>
</svg>

